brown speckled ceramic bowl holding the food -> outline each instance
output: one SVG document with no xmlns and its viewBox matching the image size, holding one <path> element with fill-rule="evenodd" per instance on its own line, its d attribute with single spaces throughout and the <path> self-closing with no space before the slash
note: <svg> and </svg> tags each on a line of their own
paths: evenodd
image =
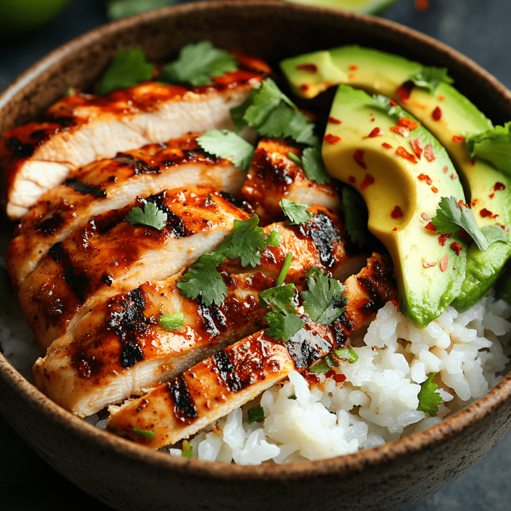
<svg viewBox="0 0 511 511">
<path fill-rule="evenodd" d="M 94 30 L 54 51 L 0 96 L 0 133 L 33 120 L 72 85 L 86 90 L 118 48 L 150 60 L 210 39 L 275 65 L 346 43 L 447 66 L 457 88 L 497 124 L 511 93 L 446 45 L 383 19 L 274 1 L 225 0 L 166 8 Z M 438 491 L 511 427 L 511 376 L 424 432 L 334 459 L 238 466 L 151 452 L 107 434 L 47 399 L 0 355 L 0 410 L 27 443 L 77 486 L 115 509 L 395 509 Z M 37 427 L 34 427 L 37 425 Z"/>
</svg>

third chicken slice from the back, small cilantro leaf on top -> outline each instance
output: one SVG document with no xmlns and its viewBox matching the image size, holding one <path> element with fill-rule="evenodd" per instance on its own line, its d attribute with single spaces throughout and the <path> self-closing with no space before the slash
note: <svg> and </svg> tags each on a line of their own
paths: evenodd
<svg viewBox="0 0 511 511">
<path fill-rule="evenodd" d="M 135 206 L 153 202 L 167 215 L 161 230 L 125 220 Z M 90 219 L 53 245 L 21 285 L 19 304 L 45 350 L 96 304 L 148 280 L 165 280 L 214 249 L 245 220 L 218 192 L 164 191 Z"/>
</svg>

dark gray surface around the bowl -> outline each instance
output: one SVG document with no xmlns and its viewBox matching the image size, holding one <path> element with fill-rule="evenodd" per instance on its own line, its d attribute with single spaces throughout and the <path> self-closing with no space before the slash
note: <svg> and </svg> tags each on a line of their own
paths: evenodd
<svg viewBox="0 0 511 511">
<path fill-rule="evenodd" d="M 443 41 L 511 87 L 511 2 L 431 0 L 429 11 L 398 0 L 383 17 Z M 104 2 L 72 0 L 48 25 L 17 41 L 0 40 L 0 90 L 61 44 L 107 21 Z M 36 428 L 37 425 L 34 425 Z M 9 511 L 111 509 L 40 460 L 0 416 L 0 509 Z M 444 490 L 406 511 L 498 511 L 511 508 L 511 433 Z M 27 491 L 27 488 L 30 491 Z M 70 498 L 71 497 L 71 498 Z M 349 497 L 348 497 L 349 498 Z M 399 510 L 396 510 L 399 511 Z M 405 511 L 405 510 L 403 510 Z"/>
</svg>

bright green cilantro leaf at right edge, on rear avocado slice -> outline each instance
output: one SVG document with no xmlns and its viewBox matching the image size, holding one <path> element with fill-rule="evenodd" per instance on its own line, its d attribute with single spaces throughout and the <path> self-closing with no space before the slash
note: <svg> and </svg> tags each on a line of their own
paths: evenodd
<svg viewBox="0 0 511 511">
<path fill-rule="evenodd" d="M 470 157 L 489 161 L 496 169 L 511 175 L 511 122 L 504 126 L 495 126 L 478 135 L 467 137 L 467 149 Z"/>
</svg>

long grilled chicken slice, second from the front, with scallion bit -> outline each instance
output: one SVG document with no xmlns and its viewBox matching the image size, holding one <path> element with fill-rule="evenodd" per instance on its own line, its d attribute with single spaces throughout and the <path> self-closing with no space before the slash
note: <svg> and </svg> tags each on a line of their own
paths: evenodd
<svg viewBox="0 0 511 511">
<path fill-rule="evenodd" d="M 322 207 L 310 210 L 304 225 L 272 224 L 283 237 L 267 246 L 261 264 L 243 269 L 239 260 L 218 267 L 228 293 L 220 305 L 185 298 L 176 286 L 181 275 L 149 282 L 92 308 L 69 332 L 55 340 L 33 367 L 36 386 L 80 416 L 120 403 L 132 394 L 175 377 L 199 360 L 260 330 L 264 315 L 258 295 L 275 285 L 288 252 L 294 254 L 286 283 L 303 289 L 307 270 L 324 269 L 339 278 L 358 271 L 365 259 L 349 258 L 337 217 Z M 183 312 L 183 329 L 166 331 L 158 317 Z"/>
</svg>

